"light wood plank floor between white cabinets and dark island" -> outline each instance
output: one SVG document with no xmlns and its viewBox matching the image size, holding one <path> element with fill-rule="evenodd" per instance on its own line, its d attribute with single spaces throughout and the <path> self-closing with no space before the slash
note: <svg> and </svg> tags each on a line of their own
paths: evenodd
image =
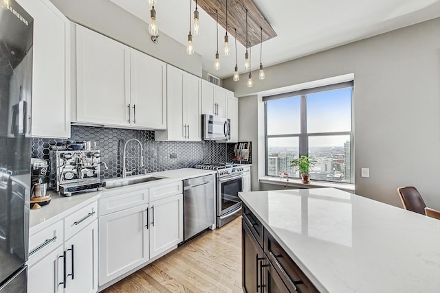
<svg viewBox="0 0 440 293">
<path fill-rule="evenodd" d="M 206 231 L 102 292 L 242 293 L 241 217 Z"/>
</svg>

